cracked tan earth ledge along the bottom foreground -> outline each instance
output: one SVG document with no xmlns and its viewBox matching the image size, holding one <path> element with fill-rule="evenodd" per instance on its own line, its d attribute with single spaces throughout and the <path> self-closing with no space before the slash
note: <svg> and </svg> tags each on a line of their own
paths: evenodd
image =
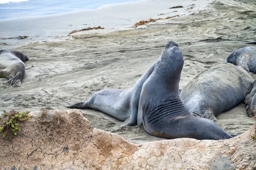
<svg viewBox="0 0 256 170">
<path fill-rule="evenodd" d="M 256 169 L 256 133 L 228 140 L 172 139 L 132 144 L 90 125 L 80 110 L 29 113 L 17 136 L 0 137 L 0 169 Z"/>
</svg>

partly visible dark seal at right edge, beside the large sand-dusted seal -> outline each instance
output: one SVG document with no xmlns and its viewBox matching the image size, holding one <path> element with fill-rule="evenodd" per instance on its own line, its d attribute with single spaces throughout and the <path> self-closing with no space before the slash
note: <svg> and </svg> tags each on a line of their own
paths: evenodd
<svg viewBox="0 0 256 170">
<path fill-rule="evenodd" d="M 256 115 L 256 80 L 253 82 L 252 91 L 247 94 L 244 100 L 248 117 Z"/>
</svg>

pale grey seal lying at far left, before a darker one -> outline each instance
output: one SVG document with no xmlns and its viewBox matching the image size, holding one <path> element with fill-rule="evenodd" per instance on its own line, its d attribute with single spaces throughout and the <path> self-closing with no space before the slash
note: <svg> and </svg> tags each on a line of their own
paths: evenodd
<svg viewBox="0 0 256 170">
<path fill-rule="evenodd" d="M 9 50 L 0 49 L 0 77 L 9 79 L 4 85 L 21 86 L 25 77 L 26 65 Z"/>
</svg>

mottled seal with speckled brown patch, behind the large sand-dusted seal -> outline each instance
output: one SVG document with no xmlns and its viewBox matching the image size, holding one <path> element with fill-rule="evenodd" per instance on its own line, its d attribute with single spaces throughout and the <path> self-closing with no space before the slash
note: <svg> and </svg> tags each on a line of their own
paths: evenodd
<svg viewBox="0 0 256 170">
<path fill-rule="evenodd" d="M 225 62 L 247 65 L 250 72 L 256 73 L 256 47 L 239 48 L 230 53 Z"/>
</svg>

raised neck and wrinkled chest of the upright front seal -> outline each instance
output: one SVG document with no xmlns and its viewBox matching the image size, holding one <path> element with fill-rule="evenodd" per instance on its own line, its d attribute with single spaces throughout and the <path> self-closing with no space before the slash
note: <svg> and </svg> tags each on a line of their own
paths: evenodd
<svg viewBox="0 0 256 170">
<path fill-rule="evenodd" d="M 177 48 L 178 49 L 178 48 Z M 147 119 L 149 117 L 176 116 L 179 113 L 188 113 L 180 100 L 179 82 L 183 67 L 183 56 L 172 54 L 168 49 L 161 57 L 160 64 L 143 85 L 142 95 L 147 96 L 148 102 L 144 108 Z M 180 52 L 181 53 L 181 52 Z M 149 113 L 149 114 L 148 114 Z"/>
</svg>

